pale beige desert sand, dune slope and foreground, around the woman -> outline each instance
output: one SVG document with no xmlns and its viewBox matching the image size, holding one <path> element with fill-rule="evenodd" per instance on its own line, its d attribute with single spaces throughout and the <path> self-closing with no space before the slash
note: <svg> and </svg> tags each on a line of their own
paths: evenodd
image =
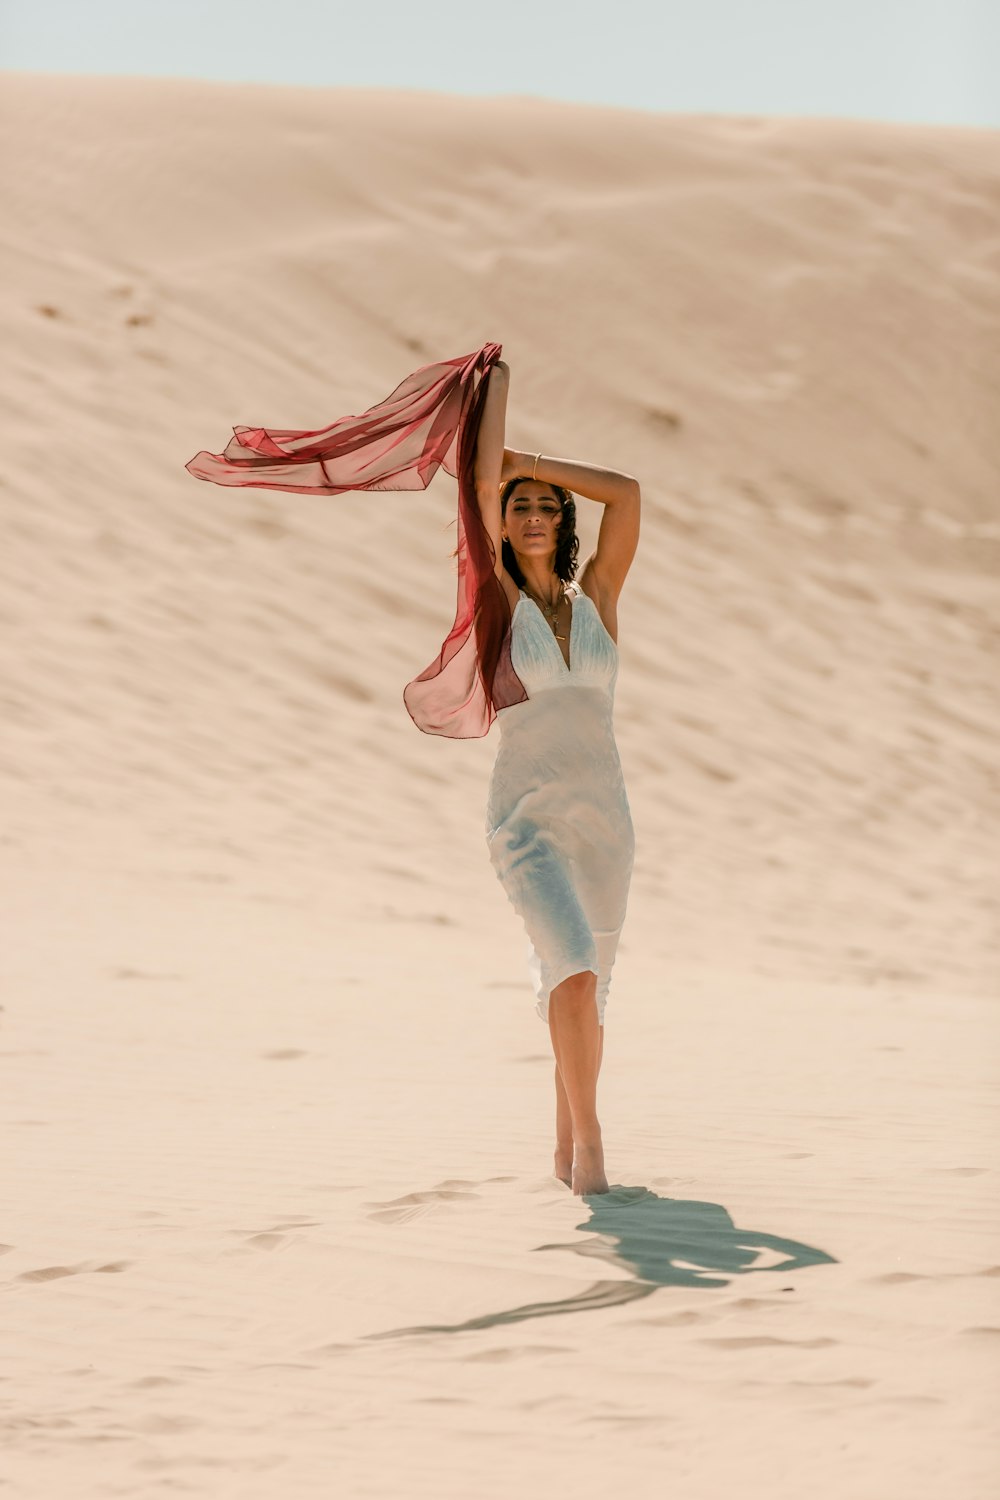
<svg viewBox="0 0 1000 1500">
<path fill-rule="evenodd" d="M 0 82 L 4 1494 L 994 1496 L 1000 136 Z M 601 1198 L 454 482 L 183 468 L 487 339 L 643 488 Z"/>
</svg>

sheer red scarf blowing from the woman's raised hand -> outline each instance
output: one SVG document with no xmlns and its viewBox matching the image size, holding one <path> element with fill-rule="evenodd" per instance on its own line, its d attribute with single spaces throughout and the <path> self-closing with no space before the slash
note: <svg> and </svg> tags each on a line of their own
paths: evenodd
<svg viewBox="0 0 1000 1500">
<path fill-rule="evenodd" d="M 418 729 L 451 740 L 484 735 L 498 708 L 523 704 L 510 658 L 510 603 L 493 570 L 493 544 L 475 494 L 475 444 L 486 375 L 499 344 L 421 364 L 360 417 L 316 432 L 234 428 L 225 453 L 196 453 L 184 468 L 214 484 L 342 495 L 349 489 L 426 489 L 444 466 L 459 482 L 459 600 L 441 651 L 403 688 Z M 478 375 L 478 381 L 477 381 Z"/>
</svg>

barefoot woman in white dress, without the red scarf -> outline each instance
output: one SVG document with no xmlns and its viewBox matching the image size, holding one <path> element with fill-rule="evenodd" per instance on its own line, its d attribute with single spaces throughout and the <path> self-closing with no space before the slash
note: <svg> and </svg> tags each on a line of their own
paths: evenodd
<svg viewBox="0 0 1000 1500">
<path fill-rule="evenodd" d="M 555 1173 L 576 1194 L 607 1192 L 597 1077 L 634 852 L 613 729 L 615 642 L 640 489 L 616 470 L 505 448 L 508 366 L 498 362 L 487 380 L 475 489 L 511 609 L 511 662 L 528 690 L 498 712 L 487 843 L 525 922 L 535 1008 L 552 1036 Z M 606 507 L 579 582 L 568 486 Z"/>
</svg>

